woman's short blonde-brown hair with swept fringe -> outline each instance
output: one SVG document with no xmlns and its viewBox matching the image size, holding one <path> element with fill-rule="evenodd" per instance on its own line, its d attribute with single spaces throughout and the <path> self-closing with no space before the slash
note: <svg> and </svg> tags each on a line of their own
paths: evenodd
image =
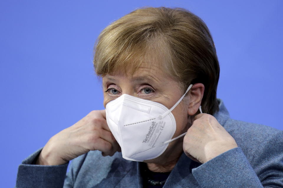
<svg viewBox="0 0 283 188">
<path fill-rule="evenodd" d="M 160 61 L 161 60 L 161 61 Z M 96 74 L 134 73 L 142 63 L 159 63 L 181 85 L 203 83 L 203 112 L 219 110 L 219 63 L 205 23 L 181 8 L 141 8 L 114 21 L 99 35 L 93 64 Z"/>
</svg>

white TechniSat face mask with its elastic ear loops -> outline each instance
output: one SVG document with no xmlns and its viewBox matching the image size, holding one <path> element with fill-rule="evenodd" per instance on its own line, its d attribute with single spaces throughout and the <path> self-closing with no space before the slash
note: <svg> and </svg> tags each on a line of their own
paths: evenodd
<svg viewBox="0 0 283 188">
<path fill-rule="evenodd" d="M 126 160 L 144 161 L 161 155 L 176 131 L 176 121 L 171 111 L 186 93 L 170 108 L 157 102 L 123 94 L 106 105 L 106 121 L 119 143 Z M 200 109 L 201 110 L 201 109 Z"/>
</svg>

